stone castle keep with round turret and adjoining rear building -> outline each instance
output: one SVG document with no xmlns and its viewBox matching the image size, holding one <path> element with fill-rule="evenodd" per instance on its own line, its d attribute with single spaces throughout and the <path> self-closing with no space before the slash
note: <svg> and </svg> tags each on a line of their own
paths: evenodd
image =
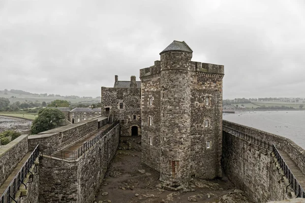
<svg viewBox="0 0 305 203">
<path fill-rule="evenodd" d="M 192 53 L 173 41 L 140 70 L 141 83 L 115 76 L 113 88 L 102 87 L 104 116 L 120 121 L 122 136 L 141 135 L 142 162 L 170 183 L 222 176 L 224 66 L 191 61 Z"/>
</svg>

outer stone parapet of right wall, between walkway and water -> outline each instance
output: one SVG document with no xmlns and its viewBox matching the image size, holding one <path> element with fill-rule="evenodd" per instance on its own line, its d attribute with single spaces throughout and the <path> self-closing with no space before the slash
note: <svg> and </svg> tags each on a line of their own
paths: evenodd
<svg viewBox="0 0 305 203">
<path fill-rule="evenodd" d="M 223 121 L 223 125 L 234 128 L 241 132 L 245 132 L 247 134 L 251 134 L 252 136 L 265 140 L 266 142 L 275 144 L 277 148 L 285 151 L 297 164 L 301 172 L 305 174 L 305 151 L 290 139 L 225 120 Z"/>
</svg>

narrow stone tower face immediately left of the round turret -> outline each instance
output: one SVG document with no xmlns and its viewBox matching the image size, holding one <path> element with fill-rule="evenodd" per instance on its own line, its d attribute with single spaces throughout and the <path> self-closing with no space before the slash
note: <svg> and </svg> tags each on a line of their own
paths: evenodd
<svg viewBox="0 0 305 203">
<path fill-rule="evenodd" d="M 155 62 L 155 64 L 156 65 L 147 68 L 146 72 L 141 75 L 141 158 L 142 163 L 160 172 L 161 66 L 160 61 Z M 151 125 L 149 125 L 149 119 L 151 119 Z"/>
</svg>

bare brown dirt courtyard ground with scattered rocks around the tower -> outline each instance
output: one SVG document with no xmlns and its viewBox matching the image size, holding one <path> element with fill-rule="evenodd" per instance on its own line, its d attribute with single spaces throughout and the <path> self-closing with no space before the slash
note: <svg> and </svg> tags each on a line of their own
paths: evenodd
<svg viewBox="0 0 305 203">
<path fill-rule="evenodd" d="M 120 143 L 96 202 L 250 202 L 225 177 L 211 181 L 194 179 L 188 188 L 177 192 L 163 189 L 159 173 L 141 164 L 140 144 L 137 143 L 137 140 Z"/>
</svg>

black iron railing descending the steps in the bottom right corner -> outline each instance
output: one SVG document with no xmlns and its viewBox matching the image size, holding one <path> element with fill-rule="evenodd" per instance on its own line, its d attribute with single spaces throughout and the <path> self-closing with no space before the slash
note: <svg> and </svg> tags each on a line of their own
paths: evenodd
<svg viewBox="0 0 305 203">
<path fill-rule="evenodd" d="M 284 175 L 282 176 L 282 181 L 284 181 L 283 178 L 284 178 L 284 176 L 286 176 L 286 178 L 289 182 L 289 185 L 287 185 L 287 187 L 286 187 L 286 192 L 287 192 L 288 187 L 291 185 L 291 187 L 294 191 L 294 194 L 297 195 L 297 197 L 305 198 L 304 189 L 299 184 L 299 182 L 296 180 L 295 176 L 291 172 L 289 166 L 287 165 L 287 163 L 285 162 L 285 160 L 281 156 L 281 153 L 278 151 L 278 149 L 275 145 L 272 145 L 272 152 L 275 154 L 275 157 L 277 158 L 277 162 L 275 164 L 279 163 L 280 164 L 279 170 L 282 168 L 282 170 L 284 171 Z"/>
</svg>

